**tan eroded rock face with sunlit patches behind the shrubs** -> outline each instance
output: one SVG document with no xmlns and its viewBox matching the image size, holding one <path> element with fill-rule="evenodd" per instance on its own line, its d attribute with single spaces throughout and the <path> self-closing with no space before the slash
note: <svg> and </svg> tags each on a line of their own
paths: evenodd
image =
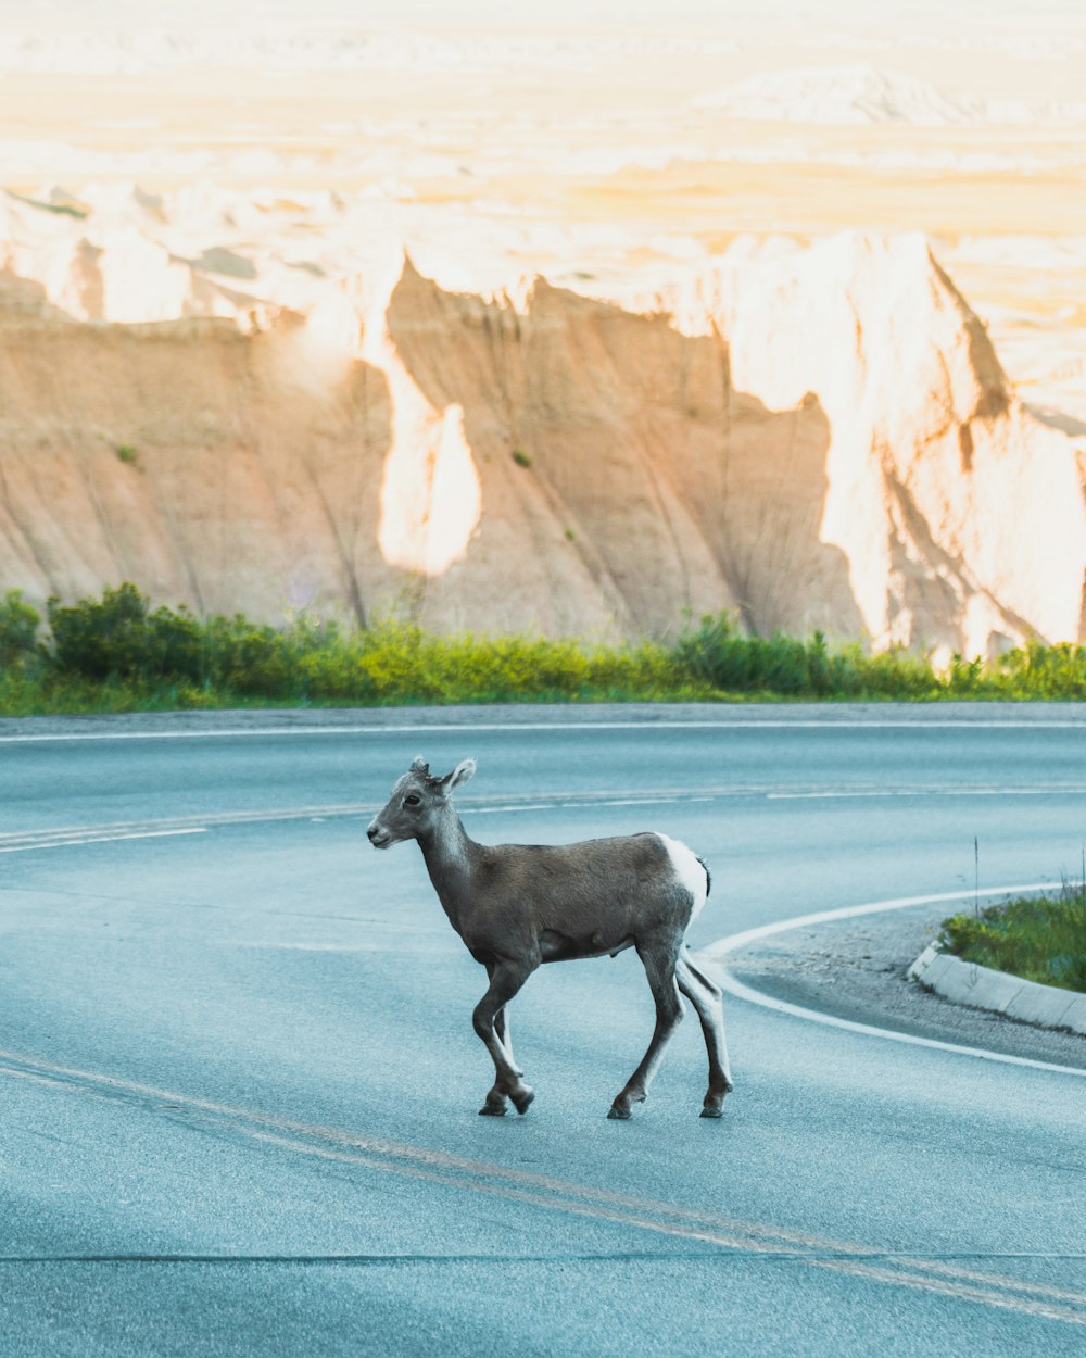
<svg viewBox="0 0 1086 1358">
<path fill-rule="evenodd" d="M 272 622 L 1083 636 L 1083 454 L 920 238 L 743 247 L 645 310 L 410 262 L 243 325 L 0 284 L 0 589 L 35 603 L 132 580 Z"/>
</svg>

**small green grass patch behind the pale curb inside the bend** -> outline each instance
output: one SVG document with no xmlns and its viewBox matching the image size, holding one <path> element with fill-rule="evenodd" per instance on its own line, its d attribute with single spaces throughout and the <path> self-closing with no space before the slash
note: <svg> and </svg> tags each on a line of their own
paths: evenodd
<svg viewBox="0 0 1086 1358">
<path fill-rule="evenodd" d="M 953 915 L 939 944 L 980 967 L 1086 991 L 1086 884 Z"/>
</svg>

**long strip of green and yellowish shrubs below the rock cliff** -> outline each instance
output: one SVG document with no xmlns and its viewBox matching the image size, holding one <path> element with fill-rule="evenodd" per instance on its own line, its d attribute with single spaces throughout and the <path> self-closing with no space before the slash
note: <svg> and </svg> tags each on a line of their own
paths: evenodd
<svg viewBox="0 0 1086 1358">
<path fill-rule="evenodd" d="M 0 714 L 227 708 L 238 703 L 445 703 L 738 699 L 1083 698 L 1086 646 L 1030 644 L 946 672 L 901 650 L 878 656 L 816 633 L 747 637 L 703 618 L 672 642 L 432 636 L 297 618 L 152 608 L 130 584 L 100 599 L 50 599 L 48 629 L 18 591 L 0 602 Z"/>
</svg>

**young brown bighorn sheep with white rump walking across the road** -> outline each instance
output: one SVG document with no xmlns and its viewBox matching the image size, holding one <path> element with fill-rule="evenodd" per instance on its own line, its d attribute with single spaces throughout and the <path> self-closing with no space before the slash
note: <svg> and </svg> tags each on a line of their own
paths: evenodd
<svg viewBox="0 0 1086 1358">
<path fill-rule="evenodd" d="M 535 1099 L 513 1058 L 508 1005 L 536 967 L 637 948 L 656 1001 L 656 1028 L 607 1116 L 624 1120 L 645 1100 L 683 1017 L 681 991 L 698 1013 L 709 1052 L 702 1116 L 719 1118 L 732 1089 L 722 997 L 686 944 L 687 926 L 709 896 L 706 865 L 654 831 L 572 845 L 476 843 L 451 801 L 474 773 L 475 760 L 464 759 L 434 778 L 415 759 L 367 835 L 375 849 L 418 842 L 449 923 L 486 967 L 490 985 L 472 1023 L 494 1062 L 494 1086 L 479 1112 L 500 1118 L 512 1099 L 524 1114 Z"/>
</svg>

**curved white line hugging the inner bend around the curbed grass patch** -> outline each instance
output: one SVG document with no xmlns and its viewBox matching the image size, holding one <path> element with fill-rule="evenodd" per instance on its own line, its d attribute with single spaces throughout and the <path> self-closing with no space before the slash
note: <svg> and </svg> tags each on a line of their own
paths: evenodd
<svg viewBox="0 0 1086 1358">
<path fill-rule="evenodd" d="M 744 929 L 741 933 L 730 934 L 700 949 L 703 956 L 714 961 L 737 952 L 748 944 L 772 934 L 787 933 L 791 929 L 804 929 L 808 925 L 828 923 L 834 919 L 857 919 L 861 915 L 877 915 L 889 910 L 905 910 L 908 906 L 938 904 L 945 900 L 972 900 L 975 896 L 1005 896 L 1024 894 L 1028 891 L 1051 889 L 1051 881 L 1017 883 L 1006 887 L 986 887 L 984 891 L 941 891 L 931 896 L 899 896 L 893 900 L 874 900 L 865 906 L 844 906 L 840 910 L 821 910 L 812 915 L 797 915 L 793 919 L 778 919 L 771 925 L 759 925 L 756 929 Z M 846 1032 L 855 1032 L 865 1038 L 885 1038 L 891 1042 L 904 1042 L 911 1047 L 934 1047 L 937 1051 L 949 1051 L 958 1057 L 977 1057 L 981 1061 L 995 1061 L 1006 1066 L 1029 1066 L 1033 1070 L 1048 1070 L 1060 1076 L 1078 1076 L 1086 1078 L 1086 1070 L 1076 1070 L 1074 1066 L 1057 1066 L 1048 1061 L 1030 1061 L 1028 1057 L 1010 1057 L 999 1051 L 983 1051 L 980 1047 L 961 1047 L 953 1042 L 938 1042 L 934 1038 L 916 1038 L 908 1032 L 893 1032 L 889 1028 L 876 1028 L 872 1024 L 853 1023 L 850 1019 L 838 1019 L 834 1014 L 820 1013 L 817 1009 L 804 1009 L 801 1005 L 791 1005 L 785 999 L 763 994 L 752 986 L 744 985 L 725 967 L 721 968 L 724 989 L 737 999 L 760 1005 L 763 1009 L 772 1009 L 776 1013 L 790 1014 L 793 1019 L 805 1019 L 809 1023 L 820 1023 L 827 1028 L 843 1028 Z"/>
</svg>

